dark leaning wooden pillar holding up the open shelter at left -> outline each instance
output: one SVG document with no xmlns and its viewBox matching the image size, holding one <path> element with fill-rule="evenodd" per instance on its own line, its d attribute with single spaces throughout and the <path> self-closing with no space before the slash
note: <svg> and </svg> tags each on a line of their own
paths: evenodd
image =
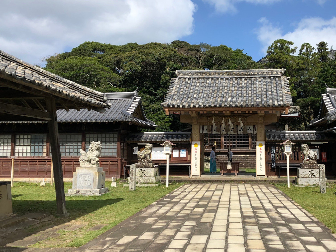
<svg viewBox="0 0 336 252">
<path fill-rule="evenodd" d="M 54 98 L 46 99 L 46 104 L 47 104 L 47 112 L 49 112 L 51 115 L 51 120 L 48 121 L 48 129 L 49 129 L 49 140 L 52 152 L 52 164 L 55 180 L 57 214 L 66 216 L 67 207 L 65 203 L 65 194 L 64 194 L 61 151 L 59 148 L 56 101 Z"/>
</svg>

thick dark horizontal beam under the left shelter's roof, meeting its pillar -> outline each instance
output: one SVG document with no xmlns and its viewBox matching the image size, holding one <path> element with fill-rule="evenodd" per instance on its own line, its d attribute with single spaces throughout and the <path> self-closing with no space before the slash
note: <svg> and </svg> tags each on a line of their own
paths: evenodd
<svg viewBox="0 0 336 252">
<path fill-rule="evenodd" d="M 0 102 L 0 113 L 12 114 L 17 116 L 27 116 L 42 120 L 51 120 L 50 113 L 3 102 Z"/>
</svg>

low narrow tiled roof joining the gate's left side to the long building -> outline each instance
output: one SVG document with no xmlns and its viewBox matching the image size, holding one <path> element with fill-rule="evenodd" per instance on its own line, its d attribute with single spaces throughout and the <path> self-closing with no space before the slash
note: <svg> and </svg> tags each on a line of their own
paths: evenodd
<svg viewBox="0 0 336 252">
<path fill-rule="evenodd" d="M 130 133 L 126 137 L 128 143 L 163 143 L 166 140 L 171 142 L 190 143 L 191 132 L 141 132 Z"/>
</svg>

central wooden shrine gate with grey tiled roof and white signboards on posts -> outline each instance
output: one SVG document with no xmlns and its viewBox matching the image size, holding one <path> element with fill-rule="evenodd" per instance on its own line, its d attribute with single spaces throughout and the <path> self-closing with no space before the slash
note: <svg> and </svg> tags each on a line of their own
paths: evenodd
<svg viewBox="0 0 336 252">
<path fill-rule="evenodd" d="M 204 153 L 216 146 L 222 159 L 230 147 L 242 167 L 254 163 L 257 175 L 265 176 L 266 160 L 256 158 L 265 151 L 265 126 L 293 105 L 284 70 L 178 70 L 176 76 L 162 106 L 167 115 L 179 114 L 180 122 L 192 125 L 193 175 L 203 173 Z"/>
</svg>

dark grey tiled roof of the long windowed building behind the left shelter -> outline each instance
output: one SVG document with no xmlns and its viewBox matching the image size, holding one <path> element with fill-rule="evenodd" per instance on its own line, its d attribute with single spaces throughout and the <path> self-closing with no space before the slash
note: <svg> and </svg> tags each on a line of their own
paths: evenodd
<svg viewBox="0 0 336 252">
<path fill-rule="evenodd" d="M 105 93 L 111 108 L 103 114 L 96 111 L 87 111 L 81 109 L 70 109 L 68 112 L 65 109 L 57 110 L 57 121 L 60 123 L 73 122 L 132 122 L 140 127 L 155 128 L 155 122 L 146 119 L 141 105 L 141 97 L 137 92 L 120 92 L 120 93 Z M 139 119 L 133 115 L 136 108 L 139 107 L 143 119 Z M 33 123 L 34 121 L 30 121 Z M 43 122 L 43 121 L 35 121 Z M 24 122 L 0 122 L 0 123 L 24 123 Z"/>
</svg>

